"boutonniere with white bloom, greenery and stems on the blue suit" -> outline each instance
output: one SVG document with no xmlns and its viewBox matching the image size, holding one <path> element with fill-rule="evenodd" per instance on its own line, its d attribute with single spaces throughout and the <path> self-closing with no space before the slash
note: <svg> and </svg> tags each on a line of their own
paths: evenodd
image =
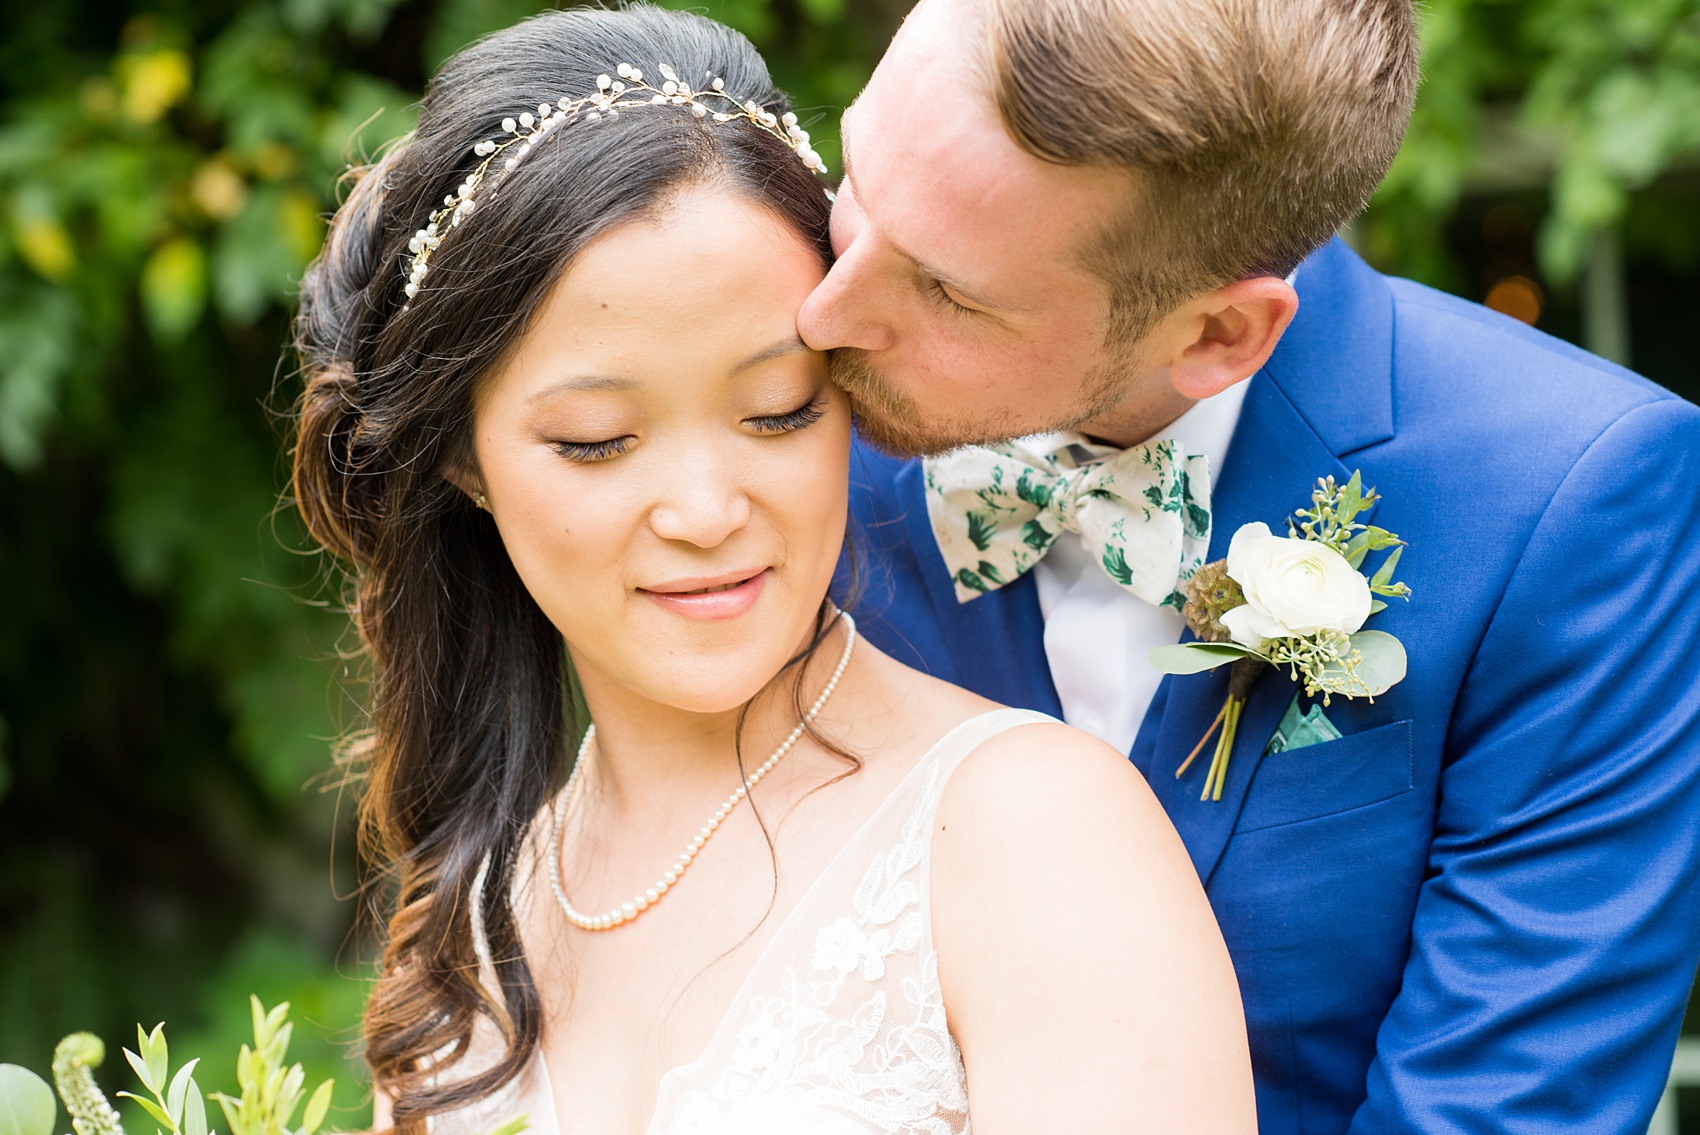
<svg viewBox="0 0 1700 1135">
<path fill-rule="evenodd" d="M 1151 664 L 1166 675 L 1197 675 L 1231 666 L 1227 700 L 1180 776 L 1216 736 L 1216 754 L 1204 778 L 1200 800 L 1221 800 L 1227 758 L 1234 751 L 1239 714 L 1253 683 L 1265 669 L 1285 668 L 1304 680 L 1307 697 L 1370 698 L 1404 678 L 1404 646 L 1363 624 L 1387 608 L 1387 598 L 1411 598 L 1411 588 L 1394 583 L 1404 540 L 1386 528 L 1358 523 L 1357 517 L 1380 500 L 1363 489 L 1363 477 L 1346 484 L 1333 477 L 1316 483 L 1311 508 L 1287 520 L 1287 535 L 1266 523 L 1248 523 L 1227 545 L 1227 559 L 1200 568 L 1187 583 L 1187 625 L 1197 642 L 1159 646 Z M 1363 561 L 1392 549 L 1375 574 Z M 1217 731 L 1221 734 L 1217 736 Z"/>
</svg>

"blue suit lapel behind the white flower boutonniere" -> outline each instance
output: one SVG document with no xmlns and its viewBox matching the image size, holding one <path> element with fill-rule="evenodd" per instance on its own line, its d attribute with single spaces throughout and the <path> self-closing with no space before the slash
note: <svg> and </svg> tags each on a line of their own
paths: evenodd
<svg viewBox="0 0 1700 1135">
<path fill-rule="evenodd" d="M 1229 540 L 1244 523 L 1261 520 L 1280 530 L 1292 510 L 1309 503 L 1318 477 L 1348 479 L 1352 467 L 1336 454 L 1392 437 L 1387 285 L 1338 241 L 1300 268 L 1297 285 L 1300 318 L 1251 379 L 1226 467 L 1214 479 L 1210 561 L 1227 556 Z M 1341 336 L 1340 326 L 1353 333 Z M 1175 770 L 1222 709 L 1227 668 L 1168 676 L 1151 702 L 1130 759 L 1163 802 L 1205 884 L 1232 836 L 1263 746 L 1297 688 L 1273 669 L 1253 686 L 1222 799 L 1212 802 L 1198 793 L 1214 741 L 1185 776 L 1176 780 Z"/>
</svg>

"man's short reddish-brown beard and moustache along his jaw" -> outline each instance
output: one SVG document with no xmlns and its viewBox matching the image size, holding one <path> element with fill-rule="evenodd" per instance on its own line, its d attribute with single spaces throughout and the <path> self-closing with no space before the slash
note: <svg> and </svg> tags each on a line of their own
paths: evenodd
<svg viewBox="0 0 1700 1135">
<path fill-rule="evenodd" d="M 916 401 L 874 369 L 867 352 L 840 347 L 826 357 L 831 381 L 853 403 L 857 433 L 874 449 L 896 457 L 932 457 L 964 445 L 1006 442 L 1028 433 L 1073 430 L 1127 399 L 1127 357 L 1107 359 L 1081 384 L 1081 401 L 1059 408 L 1032 423 L 1017 421 L 1010 411 L 979 418 L 928 420 Z"/>
</svg>

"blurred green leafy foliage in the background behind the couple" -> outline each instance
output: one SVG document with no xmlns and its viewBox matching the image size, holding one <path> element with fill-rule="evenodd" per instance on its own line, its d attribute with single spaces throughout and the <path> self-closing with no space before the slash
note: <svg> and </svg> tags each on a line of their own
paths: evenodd
<svg viewBox="0 0 1700 1135">
<path fill-rule="evenodd" d="M 359 690 L 325 564 L 279 506 L 279 360 L 338 175 L 408 129 L 444 56 L 537 3 L 19 8 L 0 31 L 0 1060 L 46 1070 L 73 1028 L 126 1043 L 163 1018 L 228 1089 L 257 992 L 294 1002 L 294 1055 L 338 1077 L 332 1123 L 355 1127 L 371 943 L 328 739 Z M 700 7 L 768 53 L 835 168 L 836 112 L 903 8 Z M 1352 240 L 1472 299 L 1527 277 L 1540 325 L 1574 338 L 1605 233 L 1635 359 L 1700 392 L 1680 335 L 1700 304 L 1700 0 L 1431 0 L 1425 36 L 1411 138 Z"/>
</svg>

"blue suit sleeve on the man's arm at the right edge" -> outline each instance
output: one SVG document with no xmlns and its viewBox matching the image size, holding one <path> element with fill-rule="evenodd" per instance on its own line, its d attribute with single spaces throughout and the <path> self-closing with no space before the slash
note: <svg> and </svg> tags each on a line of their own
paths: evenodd
<svg viewBox="0 0 1700 1135">
<path fill-rule="evenodd" d="M 1479 644 L 1350 1130 L 1644 1135 L 1697 957 L 1700 409 L 1668 399 L 1569 471 Z"/>
</svg>

